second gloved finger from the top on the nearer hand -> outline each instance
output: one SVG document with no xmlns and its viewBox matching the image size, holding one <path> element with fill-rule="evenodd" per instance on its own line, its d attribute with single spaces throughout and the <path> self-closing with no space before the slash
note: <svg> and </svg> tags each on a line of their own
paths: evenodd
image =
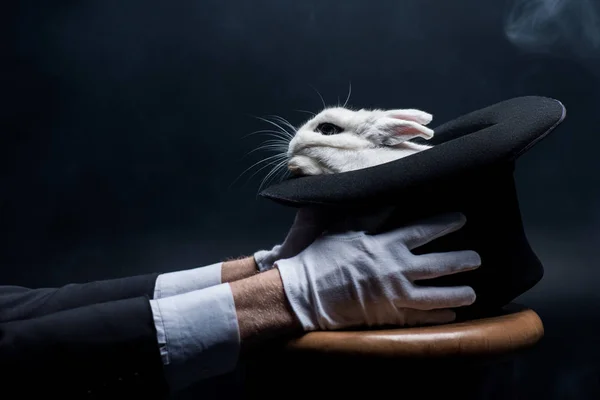
<svg viewBox="0 0 600 400">
<path fill-rule="evenodd" d="M 434 279 L 459 272 L 472 271 L 481 266 L 481 257 L 471 250 L 447 253 L 428 253 L 415 256 L 405 276 L 412 280 Z"/>
</svg>

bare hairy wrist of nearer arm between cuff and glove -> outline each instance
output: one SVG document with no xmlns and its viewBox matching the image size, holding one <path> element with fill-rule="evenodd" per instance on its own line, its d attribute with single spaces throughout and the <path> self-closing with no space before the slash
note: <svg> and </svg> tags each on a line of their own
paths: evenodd
<svg viewBox="0 0 600 400">
<path fill-rule="evenodd" d="M 243 348 L 302 332 L 287 302 L 277 268 L 230 285 Z"/>
</svg>

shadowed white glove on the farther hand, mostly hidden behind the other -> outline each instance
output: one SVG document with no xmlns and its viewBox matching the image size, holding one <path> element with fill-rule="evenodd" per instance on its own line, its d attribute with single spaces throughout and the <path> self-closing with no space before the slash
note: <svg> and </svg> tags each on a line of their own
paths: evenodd
<svg viewBox="0 0 600 400">
<path fill-rule="evenodd" d="M 271 250 L 254 253 L 258 270 L 264 272 L 273 268 L 275 261 L 296 256 L 323 233 L 330 218 L 317 208 L 301 208 L 296 212 L 292 227 L 282 244 Z"/>
</svg>

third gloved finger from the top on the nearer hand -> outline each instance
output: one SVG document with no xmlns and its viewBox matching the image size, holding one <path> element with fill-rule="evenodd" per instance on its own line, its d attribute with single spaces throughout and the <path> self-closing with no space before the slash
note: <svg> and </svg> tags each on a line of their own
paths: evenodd
<svg viewBox="0 0 600 400">
<path fill-rule="evenodd" d="M 404 307 L 417 310 L 434 310 L 470 306 L 476 298 L 470 286 L 413 286 L 402 303 Z"/>
</svg>

